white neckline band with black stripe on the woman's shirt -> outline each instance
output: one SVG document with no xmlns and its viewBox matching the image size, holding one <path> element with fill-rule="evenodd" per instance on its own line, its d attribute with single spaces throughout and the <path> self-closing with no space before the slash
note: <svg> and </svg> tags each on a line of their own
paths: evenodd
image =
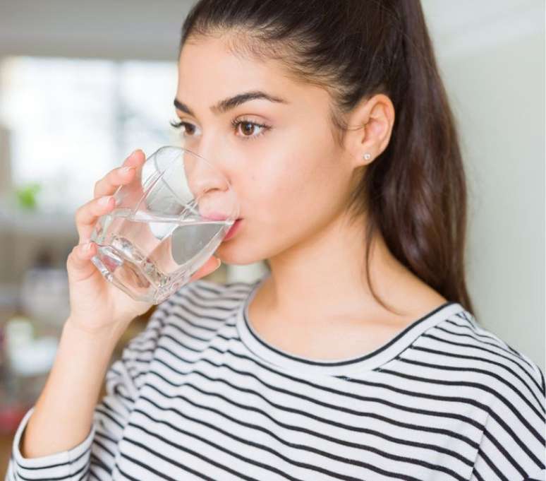
<svg viewBox="0 0 546 481">
<path fill-rule="evenodd" d="M 368 354 L 339 360 L 318 360 L 293 355 L 267 343 L 257 335 L 248 316 L 248 304 L 252 301 L 258 287 L 262 285 L 269 273 L 250 285 L 250 291 L 236 312 L 236 328 L 243 344 L 261 360 L 273 364 L 285 372 L 305 376 L 348 376 L 358 372 L 370 371 L 380 367 L 405 350 L 416 338 L 440 321 L 448 319 L 464 308 L 459 302 L 447 301 L 432 309 L 420 319 L 408 324 L 394 335 L 387 343 L 368 352 Z"/>
</svg>

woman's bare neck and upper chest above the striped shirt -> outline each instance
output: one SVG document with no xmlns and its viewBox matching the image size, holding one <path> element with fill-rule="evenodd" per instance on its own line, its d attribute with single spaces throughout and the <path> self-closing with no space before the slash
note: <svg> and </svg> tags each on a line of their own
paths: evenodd
<svg viewBox="0 0 546 481">
<path fill-rule="evenodd" d="M 334 222 L 269 259 L 271 273 L 248 306 L 250 322 L 264 340 L 294 354 L 322 353 L 315 357 L 327 359 L 344 357 L 337 355 L 332 340 L 352 338 L 358 355 L 365 345 L 381 345 L 446 302 L 397 261 L 382 237 L 376 236 L 370 252 L 370 278 L 376 294 L 396 312 L 382 307 L 366 280 L 360 231 L 363 227 Z M 346 352 L 347 345 L 343 349 Z"/>
</svg>

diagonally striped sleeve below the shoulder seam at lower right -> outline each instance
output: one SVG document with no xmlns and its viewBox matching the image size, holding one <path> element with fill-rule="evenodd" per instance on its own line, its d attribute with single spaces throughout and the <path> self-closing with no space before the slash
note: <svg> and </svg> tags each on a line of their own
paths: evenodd
<svg viewBox="0 0 546 481">
<path fill-rule="evenodd" d="M 490 403 L 470 481 L 545 480 L 545 381 L 540 367 L 528 364 L 521 385 L 497 393 Z M 517 391 L 520 390 L 518 393 Z M 528 396 L 529 393 L 534 396 Z M 528 404 L 521 403 L 523 394 Z"/>
</svg>

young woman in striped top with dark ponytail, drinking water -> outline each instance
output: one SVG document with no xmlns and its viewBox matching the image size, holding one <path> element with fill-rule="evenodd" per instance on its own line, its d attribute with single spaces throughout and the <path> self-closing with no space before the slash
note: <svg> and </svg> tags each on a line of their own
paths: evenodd
<svg viewBox="0 0 546 481">
<path fill-rule="evenodd" d="M 7 479 L 543 479 L 544 376 L 472 314 L 418 0 L 201 0 L 178 62 L 184 145 L 241 199 L 216 255 L 270 272 L 219 285 L 211 259 L 108 368 L 150 307 L 83 249 L 134 175 L 109 172 L 76 215 L 71 316 Z"/>
</svg>

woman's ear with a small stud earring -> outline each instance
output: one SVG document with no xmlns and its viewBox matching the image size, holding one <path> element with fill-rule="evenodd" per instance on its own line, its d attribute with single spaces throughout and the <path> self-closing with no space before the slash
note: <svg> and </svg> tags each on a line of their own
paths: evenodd
<svg viewBox="0 0 546 481">
<path fill-rule="evenodd" d="M 353 109 L 345 136 L 346 149 L 355 162 L 353 167 L 368 165 L 387 148 L 393 125 L 394 105 L 387 95 L 373 95 Z"/>
</svg>

